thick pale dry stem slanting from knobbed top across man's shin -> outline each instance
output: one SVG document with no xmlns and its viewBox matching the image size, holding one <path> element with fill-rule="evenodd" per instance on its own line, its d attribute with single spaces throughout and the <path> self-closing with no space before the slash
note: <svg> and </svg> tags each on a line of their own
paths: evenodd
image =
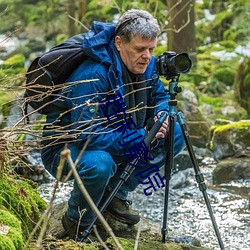
<svg viewBox="0 0 250 250">
<path fill-rule="evenodd" d="M 73 162 L 73 160 L 71 158 L 70 150 L 69 149 L 64 149 L 61 152 L 61 157 L 62 158 L 66 158 L 68 160 L 69 166 L 70 166 L 70 168 L 71 168 L 71 170 L 73 172 L 73 176 L 75 178 L 75 181 L 78 184 L 79 189 L 81 190 L 84 198 L 88 202 L 90 208 L 95 212 L 95 214 L 97 215 L 98 219 L 100 220 L 100 222 L 104 226 L 105 230 L 113 238 L 115 245 L 118 247 L 119 250 L 124 250 L 123 247 L 121 246 L 121 244 L 119 243 L 118 239 L 114 235 L 111 227 L 106 222 L 106 220 L 104 219 L 104 217 L 102 216 L 102 214 L 100 213 L 100 211 L 98 210 L 98 208 L 96 207 L 95 203 L 93 202 L 92 198 L 90 197 L 88 191 L 86 190 L 86 188 L 85 188 L 85 186 L 84 186 L 84 184 L 83 184 L 83 182 L 82 182 L 79 174 L 77 173 L 77 170 L 75 168 L 74 162 Z"/>
</svg>

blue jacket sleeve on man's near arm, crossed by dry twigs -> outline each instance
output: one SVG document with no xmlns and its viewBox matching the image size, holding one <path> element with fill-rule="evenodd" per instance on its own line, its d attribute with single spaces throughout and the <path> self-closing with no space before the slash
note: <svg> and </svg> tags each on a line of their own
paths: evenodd
<svg viewBox="0 0 250 250">
<path fill-rule="evenodd" d="M 134 143 L 141 142 L 145 137 L 145 130 L 117 130 L 107 124 L 107 117 L 100 108 L 100 101 L 107 98 L 110 86 L 106 75 L 104 66 L 95 64 L 91 67 L 83 63 L 68 79 L 69 82 L 76 83 L 66 90 L 66 102 L 71 109 L 70 128 L 77 138 L 76 143 L 79 147 L 88 143 L 88 149 L 104 150 L 119 155 Z M 77 83 L 81 79 L 89 81 Z"/>
</svg>

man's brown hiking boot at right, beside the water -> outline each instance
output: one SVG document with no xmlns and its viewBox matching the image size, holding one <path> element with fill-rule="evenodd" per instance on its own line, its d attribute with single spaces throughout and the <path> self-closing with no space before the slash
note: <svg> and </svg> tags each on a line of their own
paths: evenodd
<svg viewBox="0 0 250 250">
<path fill-rule="evenodd" d="M 122 223 L 135 225 L 140 221 L 140 216 L 130 208 L 131 205 L 132 201 L 114 197 L 105 211 Z"/>
</svg>

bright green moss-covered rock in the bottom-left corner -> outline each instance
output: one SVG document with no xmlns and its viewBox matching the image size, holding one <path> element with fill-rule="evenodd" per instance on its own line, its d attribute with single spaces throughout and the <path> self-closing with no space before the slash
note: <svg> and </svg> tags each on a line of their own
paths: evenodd
<svg viewBox="0 0 250 250">
<path fill-rule="evenodd" d="M 22 249 L 24 239 L 21 223 L 9 211 L 0 209 L 0 249 Z"/>
</svg>

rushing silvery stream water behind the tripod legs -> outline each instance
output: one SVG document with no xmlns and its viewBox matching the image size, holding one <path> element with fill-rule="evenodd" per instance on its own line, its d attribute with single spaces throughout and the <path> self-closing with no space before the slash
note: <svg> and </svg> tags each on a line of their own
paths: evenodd
<svg viewBox="0 0 250 250">
<path fill-rule="evenodd" d="M 212 158 L 206 157 L 200 166 L 205 178 L 207 194 L 216 223 L 226 250 L 250 250 L 250 180 L 233 181 L 229 184 L 212 185 Z M 54 182 L 39 187 L 42 197 L 49 201 Z M 56 203 L 69 198 L 72 182 L 64 184 L 57 192 Z M 162 228 L 165 188 L 157 189 L 146 196 L 143 186 L 129 195 L 132 208 L 141 217 L 149 219 Z M 213 229 L 202 192 L 197 187 L 194 169 L 187 168 L 173 174 L 170 180 L 167 226 L 170 234 L 177 238 L 191 237 L 203 247 L 219 250 L 219 243 Z"/>
</svg>

